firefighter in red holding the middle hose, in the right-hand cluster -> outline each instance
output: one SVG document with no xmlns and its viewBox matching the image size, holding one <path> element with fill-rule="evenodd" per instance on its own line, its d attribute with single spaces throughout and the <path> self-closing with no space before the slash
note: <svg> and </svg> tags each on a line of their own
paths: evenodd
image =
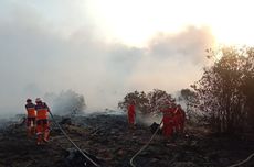
<svg viewBox="0 0 254 167">
<path fill-rule="evenodd" d="M 161 109 L 161 112 L 163 114 L 162 118 L 162 134 L 166 137 L 171 137 L 173 134 L 173 108 L 167 105 L 166 108 Z"/>
</svg>

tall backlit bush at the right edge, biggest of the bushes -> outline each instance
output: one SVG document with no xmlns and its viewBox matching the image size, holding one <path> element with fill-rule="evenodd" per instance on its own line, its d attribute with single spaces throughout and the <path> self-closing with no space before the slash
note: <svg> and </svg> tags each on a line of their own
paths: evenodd
<svg viewBox="0 0 254 167">
<path fill-rule="evenodd" d="M 210 125 L 219 133 L 253 127 L 254 48 L 231 46 L 207 53 L 213 64 L 191 86 L 197 109 L 208 113 Z"/>
</svg>

